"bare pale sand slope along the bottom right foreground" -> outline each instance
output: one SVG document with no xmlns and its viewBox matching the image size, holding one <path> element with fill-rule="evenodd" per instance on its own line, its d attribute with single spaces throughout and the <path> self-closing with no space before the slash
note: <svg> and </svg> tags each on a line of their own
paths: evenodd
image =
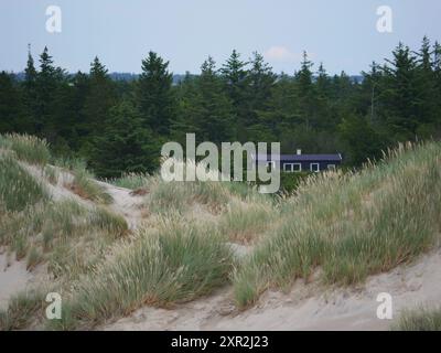
<svg viewBox="0 0 441 353">
<path fill-rule="evenodd" d="M 300 281 L 290 293 L 269 291 L 259 303 L 235 312 L 230 289 L 173 310 L 142 308 L 105 330 L 388 330 L 376 315 L 378 293 L 392 296 L 394 318 L 402 309 L 441 303 L 441 250 L 416 264 L 370 277 L 359 288 L 323 290 Z"/>
</svg>

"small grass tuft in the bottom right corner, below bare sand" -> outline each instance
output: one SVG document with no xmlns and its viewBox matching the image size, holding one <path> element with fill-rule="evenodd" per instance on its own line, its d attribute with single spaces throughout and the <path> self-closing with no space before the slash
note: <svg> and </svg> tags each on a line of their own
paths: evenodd
<svg viewBox="0 0 441 353">
<path fill-rule="evenodd" d="M 394 331 L 441 331 L 441 308 L 420 308 L 405 311 Z"/>
</svg>

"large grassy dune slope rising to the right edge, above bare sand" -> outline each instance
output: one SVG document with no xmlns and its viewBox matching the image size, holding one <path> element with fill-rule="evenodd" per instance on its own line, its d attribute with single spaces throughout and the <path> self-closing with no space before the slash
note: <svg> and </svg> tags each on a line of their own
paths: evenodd
<svg viewBox="0 0 441 353">
<path fill-rule="evenodd" d="M 441 229 L 440 162 L 440 145 L 401 147 L 359 173 L 308 181 L 234 274 L 237 304 L 308 281 L 319 267 L 324 282 L 351 285 L 428 250 Z"/>
</svg>

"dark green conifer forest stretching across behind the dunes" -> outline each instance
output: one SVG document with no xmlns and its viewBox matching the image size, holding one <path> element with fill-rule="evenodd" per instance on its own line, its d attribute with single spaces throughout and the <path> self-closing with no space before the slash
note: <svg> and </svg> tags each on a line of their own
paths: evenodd
<svg viewBox="0 0 441 353">
<path fill-rule="evenodd" d="M 37 66 L 37 68 L 36 68 Z M 373 63 L 363 82 L 315 69 L 304 54 L 293 75 L 276 75 L 263 57 L 233 51 L 178 85 L 169 63 L 150 52 L 131 82 L 112 81 L 95 57 L 88 74 L 67 74 L 47 49 L 29 53 L 24 79 L 0 74 L 0 132 L 46 138 L 54 151 L 85 158 L 100 176 L 151 172 L 163 142 L 280 141 L 282 151 L 341 152 L 359 165 L 398 141 L 441 137 L 441 45 L 400 43 Z"/>
</svg>

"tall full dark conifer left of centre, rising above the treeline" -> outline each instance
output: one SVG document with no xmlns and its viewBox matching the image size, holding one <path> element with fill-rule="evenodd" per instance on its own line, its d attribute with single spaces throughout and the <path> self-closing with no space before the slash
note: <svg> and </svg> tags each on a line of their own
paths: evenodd
<svg viewBox="0 0 441 353">
<path fill-rule="evenodd" d="M 173 75 L 168 67 L 169 62 L 149 52 L 142 61 L 142 74 L 137 87 L 137 104 L 144 126 L 163 136 L 170 133 L 175 114 Z"/>
</svg>

